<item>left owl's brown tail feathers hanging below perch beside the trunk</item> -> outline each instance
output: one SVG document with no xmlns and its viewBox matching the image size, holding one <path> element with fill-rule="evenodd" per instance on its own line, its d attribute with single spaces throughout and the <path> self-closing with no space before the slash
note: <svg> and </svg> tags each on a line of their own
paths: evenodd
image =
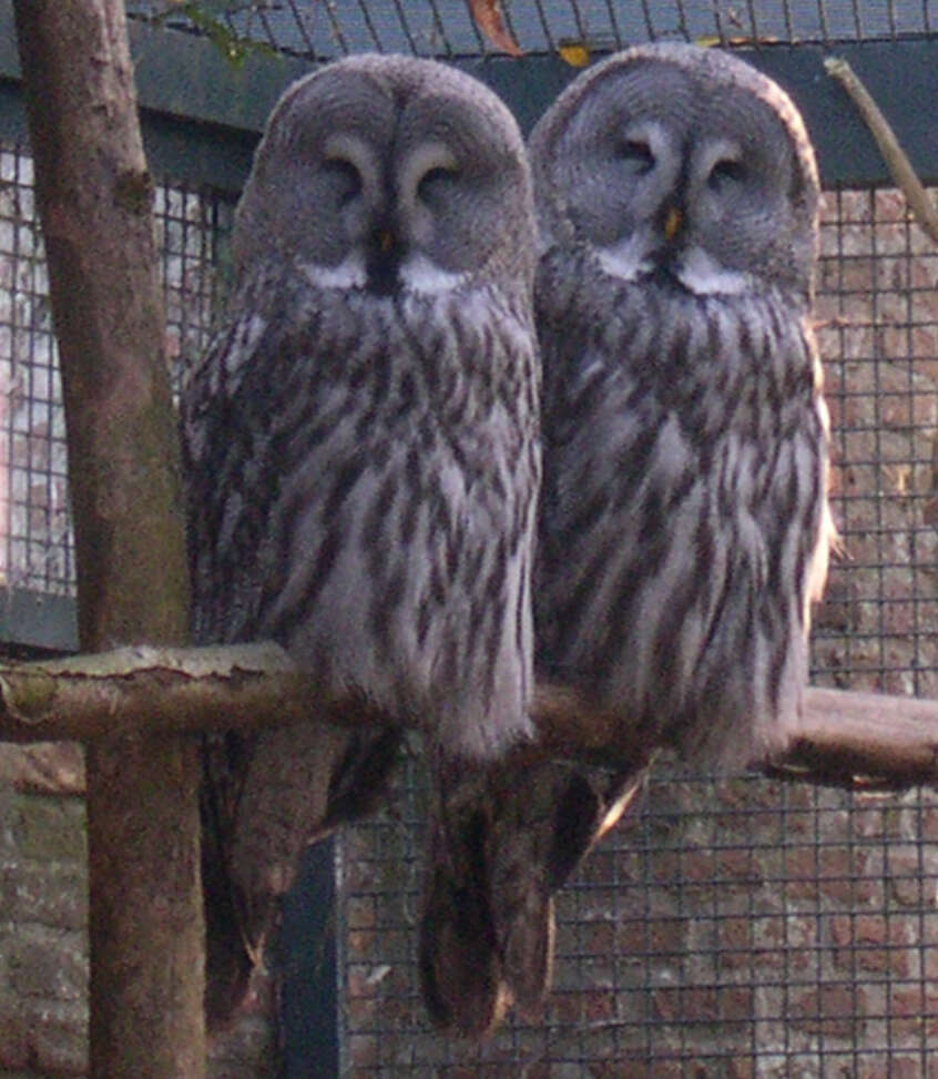
<svg viewBox="0 0 938 1079">
<path fill-rule="evenodd" d="M 202 784 L 205 1018 L 226 1025 L 247 1001 L 281 897 L 303 852 L 373 812 L 399 756 L 398 730 L 297 724 L 206 737 Z"/>
</svg>

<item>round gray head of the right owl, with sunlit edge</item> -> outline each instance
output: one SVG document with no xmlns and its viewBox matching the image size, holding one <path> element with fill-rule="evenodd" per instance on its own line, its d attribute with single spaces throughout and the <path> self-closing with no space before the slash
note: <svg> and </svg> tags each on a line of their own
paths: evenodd
<svg viewBox="0 0 938 1079">
<path fill-rule="evenodd" d="M 727 53 L 665 43 L 584 72 L 530 142 L 546 246 L 695 294 L 753 279 L 809 295 L 818 180 L 791 99 Z"/>
</svg>

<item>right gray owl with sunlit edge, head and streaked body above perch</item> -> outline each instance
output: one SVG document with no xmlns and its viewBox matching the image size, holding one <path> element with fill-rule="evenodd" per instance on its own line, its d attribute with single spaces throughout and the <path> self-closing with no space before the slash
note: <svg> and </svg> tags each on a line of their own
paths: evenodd
<svg viewBox="0 0 938 1079">
<path fill-rule="evenodd" d="M 645 750 L 746 763 L 798 723 L 833 537 L 808 136 L 754 69 L 670 43 L 582 74 L 530 154 L 538 662 Z"/>
</svg>

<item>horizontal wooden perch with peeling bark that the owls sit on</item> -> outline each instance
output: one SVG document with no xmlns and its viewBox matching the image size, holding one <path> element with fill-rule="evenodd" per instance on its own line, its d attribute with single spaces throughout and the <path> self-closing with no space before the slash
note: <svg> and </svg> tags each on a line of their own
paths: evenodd
<svg viewBox="0 0 938 1079">
<path fill-rule="evenodd" d="M 638 766 L 648 746 L 621 717 L 575 692 L 541 686 L 532 759 Z M 0 739 L 93 742 L 297 722 L 387 724 L 361 699 L 324 696 L 272 643 L 128 648 L 0 666 Z M 417 720 L 415 719 L 415 726 Z M 810 688 L 804 722 L 768 762 L 773 774 L 832 784 L 938 782 L 938 701 Z"/>
</svg>

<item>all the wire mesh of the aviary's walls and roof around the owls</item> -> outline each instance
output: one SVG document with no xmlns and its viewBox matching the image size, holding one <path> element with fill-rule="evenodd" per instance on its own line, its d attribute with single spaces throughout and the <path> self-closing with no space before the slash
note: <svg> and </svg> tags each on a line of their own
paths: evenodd
<svg viewBox="0 0 938 1079">
<path fill-rule="evenodd" d="M 153 14 L 164 6 L 136 3 Z M 938 3 L 503 4 L 527 51 L 567 39 L 830 41 L 934 32 Z M 242 4 L 238 33 L 304 55 L 488 47 L 462 3 Z M 934 193 L 932 193 L 934 194 Z M 161 186 L 172 360 L 197 355 L 224 276 L 228 197 Z M 938 695 L 938 251 L 891 190 L 826 193 L 818 338 L 844 553 L 814 634 L 822 684 Z M 29 157 L 0 146 L 0 573 L 68 592 L 65 444 Z M 938 1077 L 938 798 L 660 770 L 631 828 L 558 902 L 542 1022 L 480 1049 L 431 1032 L 414 956 L 420 770 L 348 832 L 340 1040 L 349 1076 Z"/>
</svg>

